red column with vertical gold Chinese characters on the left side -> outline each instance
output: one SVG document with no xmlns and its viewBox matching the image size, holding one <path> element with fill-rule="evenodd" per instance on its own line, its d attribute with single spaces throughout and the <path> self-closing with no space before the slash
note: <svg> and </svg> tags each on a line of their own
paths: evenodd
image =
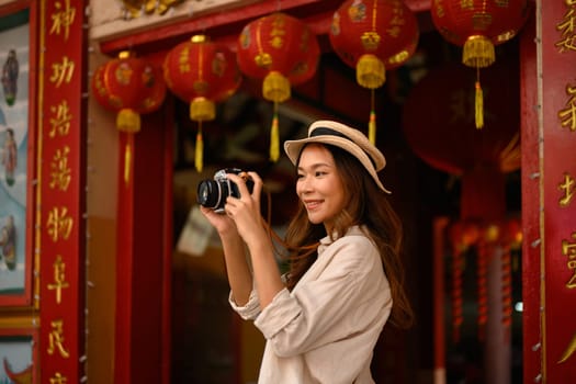
<svg viewBox="0 0 576 384">
<path fill-rule="evenodd" d="M 86 1 L 39 9 L 36 252 L 39 383 L 84 375 Z"/>
</svg>

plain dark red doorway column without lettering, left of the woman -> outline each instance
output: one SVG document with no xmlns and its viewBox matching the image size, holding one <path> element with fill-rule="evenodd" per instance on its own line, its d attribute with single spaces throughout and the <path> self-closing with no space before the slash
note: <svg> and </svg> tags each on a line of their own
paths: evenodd
<svg viewBox="0 0 576 384">
<path fill-rule="evenodd" d="M 128 181 L 118 172 L 114 383 L 169 383 L 172 120 L 167 111 L 170 105 L 143 116 Z M 121 134 L 120 159 L 125 144 Z"/>
</svg>

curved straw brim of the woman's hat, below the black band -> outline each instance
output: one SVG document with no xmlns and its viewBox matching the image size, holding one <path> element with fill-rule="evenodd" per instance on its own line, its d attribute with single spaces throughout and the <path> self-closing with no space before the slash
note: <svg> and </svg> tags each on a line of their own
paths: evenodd
<svg viewBox="0 0 576 384">
<path fill-rule="evenodd" d="M 392 193 L 388 191 L 380 181 L 380 178 L 377 176 L 376 169 L 374 168 L 374 165 L 370 157 L 366 155 L 362 148 L 360 148 L 357 144 L 354 144 L 352 140 L 334 136 L 334 135 L 318 135 L 313 137 L 306 137 L 298 140 L 286 140 L 284 142 L 284 151 L 286 153 L 286 156 L 289 157 L 290 161 L 294 166 L 297 165 L 300 154 L 302 153 L 302 149 L 304 149 L 304 146 L 310 143 L 318 143 L 318 144 L 328 144 L 334 145 L 336 147 L 342 148 L 347 153 L 354 156 L 364 166 L 366 171 L 370 173 L 376 185 L 383 190 L 386 193 Z"/>
</svg>

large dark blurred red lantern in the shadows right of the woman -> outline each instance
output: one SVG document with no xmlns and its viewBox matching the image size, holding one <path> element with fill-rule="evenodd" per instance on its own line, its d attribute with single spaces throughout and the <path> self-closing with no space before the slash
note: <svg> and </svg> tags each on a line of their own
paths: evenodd
<svg viewBox="0 0 576 384">
<path fill-rule="evenodd" d="M 505 173 L 520 168 L 518 77 L 511 60 L 486 69 L 489 128 L 474 129 L 474 74 L 452 63 L 434 68 L 410 91 L 403 129 L 431 167 L 462 177 L 461 216 L 499 219 L 506 213 Z"/>
</svg>

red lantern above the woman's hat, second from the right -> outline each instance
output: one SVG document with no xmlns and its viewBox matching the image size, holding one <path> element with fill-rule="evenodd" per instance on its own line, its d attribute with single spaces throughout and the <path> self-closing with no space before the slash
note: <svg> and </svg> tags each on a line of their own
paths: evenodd
<svg viewBox="0 0 576 384">
<path fill-rule="evenodd" d="M 374 90 L 385 72 L 402 66 L 419 38 L 415 14 L 402 0 L 347 0 L 335 12 L 329 38 L 336 54 L 355 68 L 357 82 L 372 91 L 369 137 L 375 143 Z"/>
</svg>

